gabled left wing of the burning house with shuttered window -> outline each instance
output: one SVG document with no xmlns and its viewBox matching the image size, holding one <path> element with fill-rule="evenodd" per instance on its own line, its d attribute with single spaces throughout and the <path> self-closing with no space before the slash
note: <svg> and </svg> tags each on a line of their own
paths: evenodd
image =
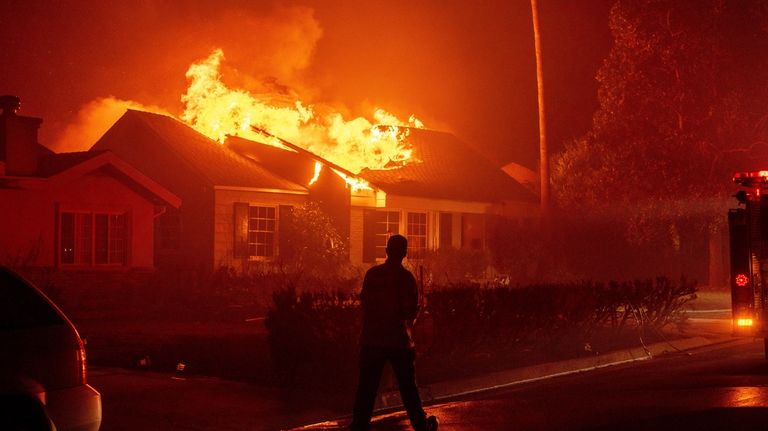
<svg viewBox="0 0 768 431">
<path fill-rule="evenodd" d="M 309 191 L 165 115 L 128 110 L 91 148 L 111 150 L 182 199 L 158 218 L 157 265 L 243 268 L 280 254 L 280 226 Z"/>
</svg>

